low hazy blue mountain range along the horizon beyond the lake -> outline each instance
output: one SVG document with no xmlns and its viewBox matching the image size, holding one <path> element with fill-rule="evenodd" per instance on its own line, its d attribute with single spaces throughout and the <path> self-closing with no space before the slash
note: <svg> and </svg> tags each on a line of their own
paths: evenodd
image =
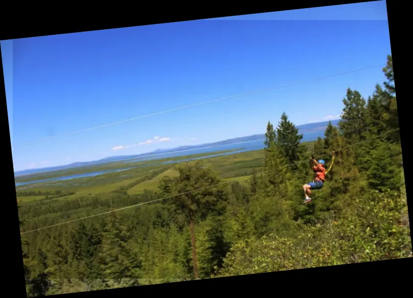
<svg viewBox="0 0 413 298">
<path fill-rule="evenodd" d="M 334 126 L 337 126 L 338 122 L 339 120 L 332 120 L 331 124 Z M 318 123 L 308 123 L 308 124 L 298 125 L 297 128 L 299 130 L 299 133 L 304 135 L 303 141 L 311 142 L 311 141 L 317 140 L 318 136 L 322 136 L 324 134 L 324 130 L 326 129 L 328 123 L 329 121 L 318 122 Z M 127 159 L 150 157 L 154 155 L 160 155 L 160 154 L 166 154 L 166 153 L 172 153 L 172 152 L 200 149 L 200 148 L 206 148 L 206 147 L 217 147 L 217 146 L 236 144 L 236 143 L 242 143 L 242 142 L 250 142 L 250 141 L 255 141 L 255 140 L 263 140 L 263 139 L 265 139 L 265 134 L 253 134 L 249 136 L 235 137 L 234 139 L 229 139 L 229 140 L 224 140 L 224 141 L 219 141 L 219 142 L 214 142 L 214 143 L 208 143 L 208 144 L 180 146 L 180 147 L 169 148 L 169 149 L 157 149 L 157 150 L 147 152 L 147 153 L 142 153 L 142 154 L 110 156 L 110 157 L 102 158 L 102 159 L 99 159 L 98 161 L 92 161 L 92 162 L 72 163 L 72 164 L 64 165 L 64 166 L 17 171 L 17 172 L 14 172 L 14 176 L 17 177 L 17 176 L 25 176 L 25 175 L 30 175 L 30 174 L 42 173 L 42 172 L 68 170 L 72 168 L 126 161 Z"/>
</svg>

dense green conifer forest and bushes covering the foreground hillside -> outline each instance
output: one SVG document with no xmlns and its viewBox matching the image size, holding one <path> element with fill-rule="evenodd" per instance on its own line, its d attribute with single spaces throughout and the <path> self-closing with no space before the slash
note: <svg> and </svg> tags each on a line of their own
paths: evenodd
<svg viewBox="0 0 413 298">
<path fill-rule="evenodd" d="M 225 175 L 205 159 L 177 164 L 153 180 L 156 190 L 136 194 L 128 189 L 171 168 L 103 195 L 18 190 L 39 197 L 18 202 L 28 295 L 411 257 L 391 56 L 383 74 L 368 99 L 344 90 L 338 128 L 330 123 L 310 148 L 285 113 L 268 122 L 251 171 Z M 329 168 L 333 151 L 324 187 L 303 204 L 310 156 Z M 231 169 L 234 156 L 222 157 Z"/>
</svg>

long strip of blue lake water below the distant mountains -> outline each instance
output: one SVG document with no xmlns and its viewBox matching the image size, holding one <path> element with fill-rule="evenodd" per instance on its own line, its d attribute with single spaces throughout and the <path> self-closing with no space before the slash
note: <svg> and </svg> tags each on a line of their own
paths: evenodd
<svg viewBox="0 0 413 298">
<path fill-rule="evenodd" d="M 318 136 L 323 137 L 324 136 L 324 130 L 304 133 L 304 137 L 303 137 L 302 142 L 314 141 L 314 140 L 317 139 Z M 154 165 L 173 164 L 173 163 L 192 161 L 192 160 L 195 160 L 195 159 L 202 159 L 202 158 L 209 158 L 209 157 L 215 157 L 215 156 L 236 154 L 236 153 L 240 153 L 240 152 L 260 150 L 260 149 L 263 149 L 264 147 L 265 147 L 264 140 L 255 140 L 255 141 L 249 141 L 249 142 L 240 142 L 240 143 L 235 143 L 235 144 L 228 144 L 228 145 L 221 145 L 221 146 L 210 146 L 210 147 L 205 147 L 205 148 L 196 148 L 196 149 L 189 149 L 189 150 L 183 150 L 183 151 L 178 151 L 178 152 L 157 154 L 157 155 L 146 156 L 146 157 L 142 157 L 142 158 L 129 159 L 129 160 L 125 161 L 124 163 L 125 164 L 134 164 L 134 163 L 138 163 L 138 162 L 142 162 L 142 161 L 150 161 L 150 160 L 163 159 L 163 158 L 168 158 L 168 157 L 180 157 L 180 156 L 186 156 L 186 155 L 192 155 L 192 154 L 211 153 L 210 155 L 206 155 L 206 156 L 202 156 L 202 157 L 181 159 L 180 161 L 166 161 L 166 162 L 159 163 L 159 164 L 152 164 L 152 165 L 142 166 L 142 167 L 148 167 L 148 166 L 154 166 Z M 239 150 L 237 150 L 237 149 L 239 149 Z M 220 154 L 213 154 L 216 151 L 225 151 L 225 150 L 235 150 L 235 151 L 227 152 L 227 153 L 220 153 Z M 43 179 L 43 180 L 17 182 L 15 184 L 15 186 L 23 186 L 23 185 L 37 184 L 37 183 L 50 182 L 50 181 L 69 180 L 69 179 L 75 179 L 75 178 L 94 177 L 94 176 L 103 175 L 103 174 L 111 173 L 111 172 L 126 171 L 126 170 L 129 170 L 129 169 L 132 169 L 132 167 L 124 168 L 124 169 L 118 169 L 118 170 L 108 170 L 108 171 L 99 171 L 99 172 L 91 172 L 91 173 L 84 173 L 84 174 L 76 174 L 76 175 L 67 175 L 67 176 L 54 177 L 54 178 Z"/>
</svg>

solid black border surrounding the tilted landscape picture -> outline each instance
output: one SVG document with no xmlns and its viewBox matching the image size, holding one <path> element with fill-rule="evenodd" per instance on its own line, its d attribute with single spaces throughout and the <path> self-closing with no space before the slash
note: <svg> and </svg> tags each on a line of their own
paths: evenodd
<svg viewBox="0 0 413 298">
<path fill-rule="evenodd" d="M 278 2 L 274 5 L 255 5 L 251 4 L 242 5 L 237 3 L 235 6 L 230 5 L 213 7 L 213 3 L 207 3 L 202 5 L 202 3 L 197 3 L 192 7 L 188 4 L 178 5 L 174 4 L 172 7 L 168 4 L 154 5 L 153 14 L 154 16 L 149 16 L 148 11 L 150 4 L 145 4 L 145 9 L 139 11 L 139 8 L 132 9 L 133 14 L 128 15 L 125 11 L 128 11 L 126 6 L 121 6 L 120 10 L 115 13 L 114 7 L 111 4 L 103 5 L 103 8 L 107 8 L 107 11 L 112 12 L 112 14 L 104 14 L 102 9 L 98 6 L 93 6 L 91 9 L 84 10 L 78 7 L 77 9 L 70 10 L 70 7 L 64 6 L 55 12 L 51 12 L 50 5 L 44 8 L 44 17 L 40 13 L 40 7 L 37 9 L 29 8 L 27 4 L 23 5 L 27 10 L 30 9 L 29 14 L 24 14 L 24 10 L 16 10 L 19 15 L 18 18 L 12 20 L 9 24 L 20 24 L 20 27 L 12 28 L 10 26 L 5 26 L 6 18 L 2 18 L 2 29 L 6 28 L 0 33 L 0 40 L 6 39 L 16 39 L 16 38 L 26 38 L 42 35 L 54 35 L 54 34 L 64 34 L 64 33 L 74 33 L 83 31 L 93 31 L 93 30 L 103 30 L 112 29 L 120 27 L 131 27 L 140 25 L 151 25 L 160 24 L 166 22 L 174 21 L 185 21 L 203 18 L 214 18 L 214 17 L 224 17 L 242 14 L 253 14 L 253 13 L 263 13 L 271 11 L 282 11 L 282 10 L 292 10 L 292 9 L 303 9 L 310 7 L 320 7 L 320 6 L 331 6 L 331 5 L 341 5 L 341 4 L 351 4 L 360 2 L 370 2 L 370 1 L 312 1 L 311 4 L 303 3 L 292 3 L 292 2 Z M 387 5 L 387 15 L 388 15 L 388 27 L 391 37 L 391 50 L 393 56 L 394 68 L 397 68 L 397 82 L 399 91 L 399 101 L 397 101 L 399 110 L 399 126 L 400 133 L 402 131 L 407 135 L 407 117 L 402 113 L 407 113 L 409 110 L 406 105 L 406 100 L 400 100 L 402 98 L 404 89 L 403 84 L 401 84 L 401 66 L 399 61 L 402 61 L 401 53 L 396 49 L 396 13 L 394 7 L 395 1 L 386 0 Z M 137 3 L 138 4 L 138 3 Z M 255 3 L 256 4 L 256 3 Z M 137 5 L 143 8 L 143 5 Z M 5 8 L 5 6 L 4 6 Z M 123 8 L 123 9 L 122 9 Z M 165 13 L 159 8 L 163 8 Z M 174 11 L 172 14 L 171 11 Z M 5 10 L 3 10 L 5 14 Z M 14 17 L 12 15 L 12 17 Z M 95 19 L 101 19 L 101 21 Z M 27 26 L 23 25 L 27 24 Z M 53 26 L 51 25 L 53 24 Z M 1 49 L 0 49 L 1 51 Z M 1 52 L 0 52 L 1 53 Z M 397 54 L 396 54 L 397 53 Z M 396 59 L 395 59 L 396 57 Z M 396 62 L 395 62 L 396 61 Z M 406 61 L 406 60 L 405 60 Z M 0 71 L 3 74 L 3 61 L 0 59 Z M 4 76 L 3 76 L 4 77 Z M 402 89 L 400 89 L 402 87 Z M 8 129 L 8 117 L 7 117 L 7 105 L 6 105 L 6 93 L 4 80 L 0 83 L 0 96 L 2 97 L 3 105 L 1 107 L 4 122 L 4 138 L 10 140 L 10 131 Z M 19 236 L 18 228 L 18 215 L 17 215 L 17 204 L 14 199 L 15 196 L 14 188 L 14 175 L 13 175 L 13 162 L 11 154 L 11 146 L 9 141 L 7 141 L 7 158 L 4 165 L 7 167 L 7 171 L 10 172 L 6 176 L 4 183 L 10 185 L 10 196 L 4 197 L 3 199 L 3 216 L 2 222 L 3 227 L 10 226 L 10 220 L 15 222 L 14 227 L 11 229 L 4 228 L 2 233 L 7 233 L 2 236 L 3 248 L 6 248 L 6 252 L 2 254 L 3 256 L 3 272 L 7 274 L 7 278 L 3 279 L 7 281 L 3 287 L 3 293 L 10 292 L 11 297 L 26 297 L 26 286 L 23 277 L 23 264 L 21 258 L 21 240 Z M 406 169 L 410 165 L 409 161 L 409 147 L 407 141 L 402 143 L 403 152 L 403 162 L 406 164 Z M 407 154 L 406 154 L 407 153 Z M 406 185 L 410 181 L 410 173 L 405 172 Z M 407 190 L 406 190 L 407 191 Z M 408 202 L 409 209 L 413 208 L 411 203 Z M 14 210 L 14 213 L 9 212 L 9 210 Z M 10 239 L 13 239 L 11 241 Z M 13 260 L 10 266 L 6 266 L 6 260 Z M 302 289 L 303 293 L 307 295 L 326 293 L 328 295 L 344 293 L 345 290 L 349 290 L 352 294 L 363 294 L 359 289 L 359 286 L 367 286 L 367 295 L 373 294 L 374 291 L 379 291 L 384 294 L 384 287 L 387 286 L 390 292 L 395 295 L 399 289 L 403 288 L 402 281 L 408 281 L 409 274 L 405 272 L 404 269 L 408 269 L 412 265 L 411 258 L 398 259 L 398 260 L 388 260 L 388 261 L 378 261 L 369 263 L 359 263 L 351 265 L 339 265 L 330 267 L 319 267 L 310 269 L 299 269 L 291 271 L 282 272 L 269 272 L 260 274 L 251 274 L 248 276 L 238 276 L 220 279 L 207 279 L 200 281 L 190 281 L 190 282 L 179 282 L 170 284 L 161 284 L 153 286 L 144 287 L 134 287 L 134 288 L 122 288 L 104 291 L 93 291 L 93 292 L 82 292 L 75 294 L 62 294 L 62 296 L 72 296 L 83 297 L 84 295 L 89 296 L 115 296 L 115 295 L 130 295 L 135 296 L 138 294 L 150 294 L 165 292 L 171 295 L 173 291 L 177 294 L 190 294 L 191 296 L 202 294 L 224 294 L 223 289 L 227 288 L 228 292 L 235 294 L 235 292 L 244 292 L 247 294 L 247 288 L 251 288 L 252 292 L 263 293 L 268 292 L 270 294 L 278 294 L 282 292 L 287 292 L 287 295 L 298 294 L 298 289 Z M 351 270 L 351 272 L 347 271 Z M 286 283 L 291 283 L 291 286 L 287 286 Z M 195 291 L 185 291 L 193 287 Z M 331 290 L 330 290 L 331 288 Z M 358 289 L 356 289 L 358 288 Z M 292 290 L 292 291 L 291 291 Z M 404 292 L 404 291 L 403 291 Z M 401 291 L 400 291 L 401 293 Z M 60 296 L 60 295 L 59 295 Z"/>
</svg>

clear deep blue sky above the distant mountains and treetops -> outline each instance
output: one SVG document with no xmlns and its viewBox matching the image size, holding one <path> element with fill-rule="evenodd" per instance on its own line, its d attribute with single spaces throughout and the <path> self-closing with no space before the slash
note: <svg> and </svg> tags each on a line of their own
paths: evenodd
<svg viewBox="0 0 413 298">
<path fill-rule="evenodd" d="M 264 133 L 266 123 L 278 123 L 284 111 L 296 125 L 337 118 L 348 87 L 367 98 L 385 80 L 380 67 L 17 146 L 384 64 L 391 54 L 384 1 L 306 11 L 307 17 L 304 10 L 299 15 L 316 20 L 280 20 L 286 12 L 276 12 L 266 17 L 284 16 L 3 41 L 14 170 Z M 322 20 L 329 11 L 335 20 Z M 130 147 L 111 150 L 118 146 Z"/>
</svg>

